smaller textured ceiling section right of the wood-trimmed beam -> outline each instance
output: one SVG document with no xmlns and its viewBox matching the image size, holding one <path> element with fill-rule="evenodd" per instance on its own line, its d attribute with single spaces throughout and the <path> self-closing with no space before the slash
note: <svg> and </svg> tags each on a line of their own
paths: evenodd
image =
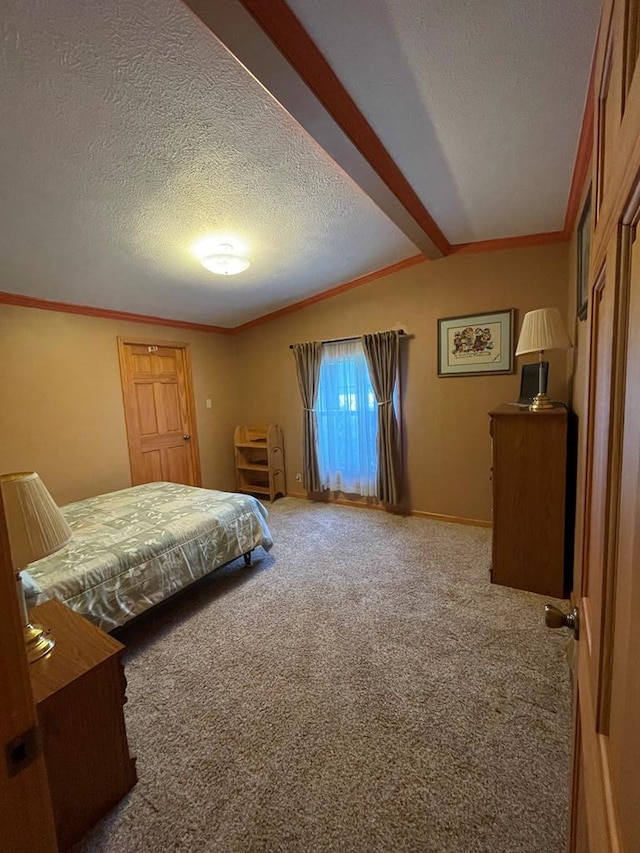
<svg viewBox="0 0 640 853">
<path fill-rule="evenodd" d="M 563 227 L 599 0 L 288 0 L 451 243 Z"/>
</svg>

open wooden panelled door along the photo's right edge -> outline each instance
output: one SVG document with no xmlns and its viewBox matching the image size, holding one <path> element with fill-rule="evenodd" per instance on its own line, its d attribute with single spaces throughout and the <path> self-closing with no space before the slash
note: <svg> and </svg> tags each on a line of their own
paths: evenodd
<svg viewBox="0 0 640 853">
<path fill-rule="evenodd" d="M 604 4 L 570 849 L 640 851 L 640 75 L 638 0 Z M 635 618 L 634 618 L 635 617 Z"/>
</svg>

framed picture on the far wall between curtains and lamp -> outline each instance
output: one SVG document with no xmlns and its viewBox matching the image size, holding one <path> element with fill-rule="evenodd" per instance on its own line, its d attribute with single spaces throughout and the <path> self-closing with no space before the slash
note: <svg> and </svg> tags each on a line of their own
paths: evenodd
<svg viewBox="0 0 640 853">
<path fill-rule="evenodd" d="M 438 376 L 513 373 L 513 308 L 438 320 Z"/>
</svg>

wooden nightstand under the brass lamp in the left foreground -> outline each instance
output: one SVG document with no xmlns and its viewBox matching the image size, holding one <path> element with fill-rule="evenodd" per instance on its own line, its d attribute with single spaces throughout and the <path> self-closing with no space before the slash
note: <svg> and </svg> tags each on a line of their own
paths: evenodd
<svg viewBox="0 0 640 853">
<path fill-rule="evenodd" d="M 30 613 L 55 648 L 29 667 L 58 845 L 65 850 L 136 783 L 122 706 L 124 646 L 60 601 Z"/>
</svg>

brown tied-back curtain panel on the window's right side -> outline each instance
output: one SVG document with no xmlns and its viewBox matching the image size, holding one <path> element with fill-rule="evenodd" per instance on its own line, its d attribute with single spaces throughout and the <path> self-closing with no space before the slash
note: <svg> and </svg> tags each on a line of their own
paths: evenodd
<svg viewBox="0 0 640 853">
<path fill-rule="evenodd" d="M 400 500 L 401 488 L 398 421 L 393 406 L 393 392 L 400 361 L 400 336 L 398 332 L 363 335 L 362 346 L 378 404 L 376 491 L 382 503 L 395 506 Z"/>
</svg>

